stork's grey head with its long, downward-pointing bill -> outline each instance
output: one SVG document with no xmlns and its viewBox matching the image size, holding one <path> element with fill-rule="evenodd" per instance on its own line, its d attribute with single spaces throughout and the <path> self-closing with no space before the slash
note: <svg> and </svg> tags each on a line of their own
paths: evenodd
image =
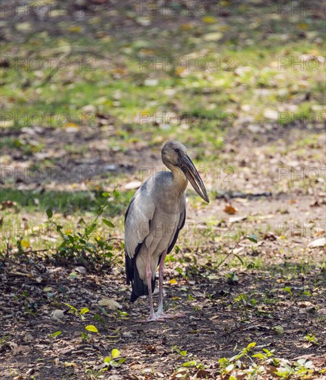
<svg viewBox="0 0 326 380">
<path fill-rule="evenodd" d="M 186 148 L 181 142 L 168 141 L 162 148 L 162 161 L 169 169 L 173 170 L 173 167 L 178 167 L 182 170 L 186 178 L 192 184 L 196 193 L 209 203 L 209 196 L 207 195 L 206 188 L 202 182 L 202 178 L 195 168 L 195 165 L 186 153 Z"/>
</svg>

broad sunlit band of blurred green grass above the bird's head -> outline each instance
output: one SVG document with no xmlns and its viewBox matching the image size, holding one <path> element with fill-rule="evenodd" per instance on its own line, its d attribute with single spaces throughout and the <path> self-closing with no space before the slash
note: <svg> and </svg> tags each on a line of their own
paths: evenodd
<svg viewBox="0 0 326 380">
<path fill-rule="evenodd" d="M 53 127 L 64 127 L 66 121 L 87 123 L 91 120 L 87 116 L 83 118 L 82 108 L 93 104 L 100 113 L 115 117 L 116 128 L 125 131 L 137 129 L 141 133 L 152 134 L 157 133 L 157 126 L 153 123 L 140 125 L 142 111 L 156 114 L 157 119 L 162 112 L 180 116 L 188 113 L 193 117 L 188 125 L 193 139 L 186 139 L 189 140 L 186 142 L 196 140 L 214 149 L 222 144 L 218 139 L 223 135 L 222 128 L 217 126 L 216 115 L 223 120 L 223 115 L 231 110 L 234 119 L 245 115 L 252 116 L 256 123 L 270 122 L 264 116 L 266 108 L 280 111 L 284 103 L 296 104 L 296 99 L 309 94 L 309 100 L 300 102 L 294 111 L 294 118 L 305 122 L 311 107 L 323 104 L 323 65 L 320 64 L 317 70 L 308 70 L 307 66 L 303 70 L 294 70 L 289 63 L 280 69 L 278 60 L 283 57 L 289 62 L 292 58 L 298 61 L 304 54 L 322 56 L 323 46 L 316 42 L 316 37 L 323 30 L 322 23 L 309 15 L 303 18 L 302 23 L 289 15 L 272 17 L 276 9 L 268 6 L 259 8 L 264 21 L 258 21 L 255 19 L 257 11 L 250 9 L 249 17 L 253 21 L 247 23 L 243 22 L 243 17 L 249 8 L 234 7 L 233 17 L 227 23 L 220 23 L 218 18 L 213 17 L 213 23 L 204 21 L 198 26 L 189 23 L 185 30 L 180 26 L 181 32 L 180 28 L 161 32 L 142 28 L 135 35 L 126 33 L 119 38 L 104 33 L 102 38 L 95 40 L 78 30 L 66 33 L 64 38 L 54 38 L 41 32 L 32 35 L 23 45 L 8 43 L 3 55 L 11 57 L 15 47 L 15 57 L 23 56 L 26 50 L 30 50 L 30 59 L 43 57 L 44 62 L 38 71 L 31 69 L 31 61 L 28 60 L 24 70 L 15 70 L 15 65 L 1 70 L 5 83 L 3 97 L 8 112 L 12 113 L 12 117 L 10 114 L 5 117 L 7 125 L 17 128 L 27 126 L 36 113 L 42 115 L 43 123 L 39 124 L 46 121 Z M 274 34 L 267 32 L 268 28 L 265 30 L 265 22 Z M 93 19 L 89 19 L 88 23 L 88 26 L 92 25 Z M 68 23 L 63 22 L 63 28 L 64 25 L 69 30 Z M 300 28 L 307 30 L 304 39 L 298 37 Z M 215 41 L 205 40 L 207 33 L 216 31 L 222 32 L 223 37 L 218 48 Z M 314 31 L 314 35 L 309 35 L 310 31 Z M 280 44 L 283 33 L 288 33 L 289 37 L 284 44 Z M 69 70 L 57 70 L 46 82 L 46 77 L 51 73 L 46 64 L 47 57 L 60 57 L 69 50 Z M 92 58 L 90 67 L 80 63 L 81 55 Z M 191 57 L 189 70 L 186 69 L 184 57 Z M 195 66 L 198 57 L 209 69 L 200 70 L 198 65 Z M 157 62 L 162 59 L 169 62 L 172 58 L 176 59 L 174 66 L 166 63 L 163 69 L 153 63 L 155 59 Z M 148 59 L 149 64 L 141 69 L 140 59 Z M 178 59 L 181 66 L 177 64 Z M 149 85 L 148 79 L 155 79 L 153 86 Z M 171 90 L 172 97 L 169 95 Z M 259 93 L 260 90 L 264 92 Z M 62 116 L 63 113 L 68 115 L 68 120 Z M 204 126 L 196 122 L 201 113 L 208 120 Z M 19 120 L 25 114 L 27 117 Z M 46 116 L 48 114 L 49 117 Z M 281 122 L 287 126 L 293 124 L 293 118 L 288 117 Z M 159 126 L 160 135 L 179 137 L 182 134 L 179 127 L 180 124 L 170 125 L 166 129 Z M 124 140 L 128 142 L 131 139 L 132 134 L 126 131 Z M 216 140 L 219 142 L 216 143 Z"/>
</svg>

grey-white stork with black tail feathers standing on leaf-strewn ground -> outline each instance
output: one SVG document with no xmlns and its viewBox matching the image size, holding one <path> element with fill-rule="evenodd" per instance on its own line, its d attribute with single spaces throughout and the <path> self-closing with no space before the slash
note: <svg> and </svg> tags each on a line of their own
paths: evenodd
<svg viewBox="0 0 326 380">
<path fill-rule="evenodd" d="M 149 299 L 145 322 L 166 321 L 184 314 L 166 314 L 163 310 L 163 274 L 169 254 L 186 220 L 185 191 L 188 181 L 198 195 L 209 203 L 209 196 L 186 148 L 168 141 L 162 148 L 162 162 L 169 170 L 157 171 L 137 189 L 124 218 L 126 283 L 131 284 L 131 303 L 140 296 Z M 159 267 L 159 299 L 154 312 L 152 292 Z"/>
</svg>

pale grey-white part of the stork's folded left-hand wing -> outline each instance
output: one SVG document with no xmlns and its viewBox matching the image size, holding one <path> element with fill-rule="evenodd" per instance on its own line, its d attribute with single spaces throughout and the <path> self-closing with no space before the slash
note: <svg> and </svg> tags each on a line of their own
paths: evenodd
<svg viewBox="0 0 326 380">
<path fill-rule="evenodd" d="M 155 205 L 146 189 L 140 188 L 131 200 L 124 218 L 124 250 L 133 258 L 149 234 Z"/>
</svg>

